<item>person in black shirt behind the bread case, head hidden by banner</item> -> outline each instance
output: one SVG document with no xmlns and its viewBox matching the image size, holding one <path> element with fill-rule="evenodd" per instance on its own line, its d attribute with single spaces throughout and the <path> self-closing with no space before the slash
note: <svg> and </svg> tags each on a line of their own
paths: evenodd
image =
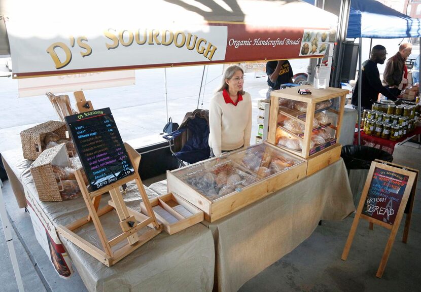
<svg viewBox="0 0 421 292">
<path fill-rule="evenodd" d="M 269 89 L 266 93 L 266 98 L 270 98 L 272 90 L 280 89 L 280 85 L 284 83 L 293 83 L 291 64 L 288 60 L 269 61 L 266 63 L 267 85 Z"/>
</svg>

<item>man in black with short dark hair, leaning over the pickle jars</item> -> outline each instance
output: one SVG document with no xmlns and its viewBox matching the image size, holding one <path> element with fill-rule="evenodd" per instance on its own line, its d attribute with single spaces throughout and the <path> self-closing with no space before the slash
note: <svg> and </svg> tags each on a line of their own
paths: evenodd
<svg viewBox="0 0 421 292">
<path fill-rule="evenodd" d="M 390 92 L 387 88 L 381 85 L 380 74 L 378 72 L 377 64 L 383 64 L 386 59 L 386 48 L 381 45 L 374 46 L 371 50 L 371 57 L 365 61 L 362 65 L 361 72 L 361 110 L 368 108 L 371 109 L 373 102 L 377 101 L 378 94 L 381 93 L 388 99 L 393 101 L 397 100 L 397 97 Z M 354 107 L 358 106 L 358 84 L 355 85 L 355 90 L 351 103 Z"/>
</svg>

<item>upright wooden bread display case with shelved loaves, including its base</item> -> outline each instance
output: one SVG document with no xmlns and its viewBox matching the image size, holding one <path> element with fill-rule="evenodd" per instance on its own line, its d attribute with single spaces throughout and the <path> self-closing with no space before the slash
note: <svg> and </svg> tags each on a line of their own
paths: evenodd
<svg viewBox="0 0 421 292">
<path fill-rule="evenodd" d="M 301 95 L 300 89 L 311 94 Z M 348 90 L 312 86 L 271 92 L 268 142 L 307 159 L 307 175 L 340 157 L 337 143 Z"/>
</svg>

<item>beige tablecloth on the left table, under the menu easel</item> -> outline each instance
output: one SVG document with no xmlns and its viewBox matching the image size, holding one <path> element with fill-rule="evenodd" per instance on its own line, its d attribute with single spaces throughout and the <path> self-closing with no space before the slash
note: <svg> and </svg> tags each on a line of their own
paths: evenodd
<svg viewBox="0 0 421 292">
<path fill-rule="evenodd" d="M 39 201 L 29 169 L 21 167 L 21 154 L 11 151 L 2 156 L 9 171 L 19 177 L 18 181 L 11 181 L 12 185 L 22 183 L 54 226 L 67 225 L 88 214 L 81 197 L 64 202 Z M 128 189 L 131 187 L 129 185 Z M 151 189 L 145 190 L 148 197 L 157 196 Z M 101 205 L 107 204 L 108 200 L 109 196 L 103 196 Z M 138 209 L 141 197 L 129 191 L 124 200 L 127 206 Z M 108 238 L 121 231 L 116 212 L 109 212 L 100 220 Z M 93 224 L 77 229 L 76 233 L 100 246 Z M 201 224 L 171 236 L 163 231 L 110 268 L 72 242 L 60 238 L 89 291 L 211 291 L 213 288 L 214 241 L 211 231 Z"/>
</svg>

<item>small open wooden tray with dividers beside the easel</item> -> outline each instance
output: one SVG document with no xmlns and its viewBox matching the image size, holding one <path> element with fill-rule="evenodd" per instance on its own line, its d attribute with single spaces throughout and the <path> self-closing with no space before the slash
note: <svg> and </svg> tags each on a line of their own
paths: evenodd
<svg viewBox="0 0 421 292">
<path fill-rule="evenodd" d="M 151 203 L 158 222 L 164 226 L 165 232 L 169 235 L 203 221 L 203 211 L 177 194 L 169 193 L 157 198 L 149 199 L 149 202 Z M 184 207 L 189 213 L 180 212 L 178 209 L 180 206 Z M 161 207 L 162 209 L 157 210 L 156 207 Z M 143 213 L 146 212 L 146 207 L 143 202 L 141 203 L 141 209 Z"/>
</svg>

